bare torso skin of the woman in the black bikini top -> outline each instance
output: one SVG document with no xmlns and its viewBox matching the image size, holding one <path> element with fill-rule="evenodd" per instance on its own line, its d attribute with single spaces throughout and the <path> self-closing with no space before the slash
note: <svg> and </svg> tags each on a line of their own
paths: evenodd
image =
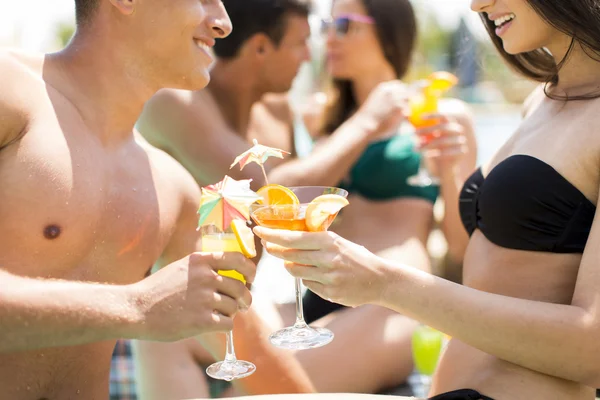
<svg viewBox="0 0 600 400">
<path fill-rule="evenodd" d="M 598 135 L 590 128 L 594 126 L 594 108 L 599 102 L 564 103 L 540 97 L 538 106 L 516 134 L 489 166 L 483 168 L 483 175 L 511 155 L 526 154 L 553 167 L 596 204 L 600 171 L 595 137 Z M 527 174 L 528 171 L 519 172 Z M 547 178 L 539 176 L 540 184 Z M 570 304 L 580 261 L 581 253 L 500 247 L 476 230 L 465 255 L 463 282 L 466 286 L 505 296 Z M 591 388 L 500 360 L 453 339 L 440 361 L 432 393 L 466 387 L 499 400 L 594 398 Z"/>
</svg>

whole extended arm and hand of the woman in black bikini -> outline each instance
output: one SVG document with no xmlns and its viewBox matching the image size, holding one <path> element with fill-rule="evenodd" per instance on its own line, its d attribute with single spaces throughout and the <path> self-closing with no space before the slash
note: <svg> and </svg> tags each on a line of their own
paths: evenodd
<svg viewBox="0 0 600 400">
<path fill-rule="evenodd" d="M 508 362 L 591 387 L 600 385 L 600 214 L 571 305 L 457 285 L 384 261 L 331 232 L 255 232 L 270 242 L 270 254 L 296 263 L 288 265 L 288 271 L 324 298 L 346 305 L 382 305 Z"/>
</svg>

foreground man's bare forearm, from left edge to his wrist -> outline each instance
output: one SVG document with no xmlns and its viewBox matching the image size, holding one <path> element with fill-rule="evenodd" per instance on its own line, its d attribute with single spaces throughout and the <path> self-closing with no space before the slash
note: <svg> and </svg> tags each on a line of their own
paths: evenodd
<svg viewBox="0 0 600 400">
<path fill-rule="evenodd" d="M 131 337 L 140 322 L 127 286 L 29 279 L 0 268 L 0 353 Z"/>
</svg>

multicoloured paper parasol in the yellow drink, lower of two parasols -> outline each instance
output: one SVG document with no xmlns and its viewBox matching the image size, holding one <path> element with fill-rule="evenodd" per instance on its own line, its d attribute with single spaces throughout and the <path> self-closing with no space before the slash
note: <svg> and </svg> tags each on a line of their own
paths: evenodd
<svg viewBox="0 0 600 400">
<path fill-rule="evenodd" d="M 198 227 L 215 225 L 224 231 L 234 219 L 247 221 L 250 218 L 250 205 L 261 198 L 250 189 L 251 181 L 236 181 L 225 176 L 221 182 L 203 187 Z"/>
</svg>

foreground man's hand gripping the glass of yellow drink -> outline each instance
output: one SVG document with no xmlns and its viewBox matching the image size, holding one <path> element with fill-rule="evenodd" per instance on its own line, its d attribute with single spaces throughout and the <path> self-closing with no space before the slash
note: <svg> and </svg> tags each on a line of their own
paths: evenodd
<svg viewBox="0 0 600 400">
<path fill-rule="evenodd" d="M 236 270 L 251 283 L 256 266 L 241 253 L 193 253 L 134 284 L 140 313 L 135 337 L 176 341 L 231 330 L 233 316 L 250 307 L 252 295 L 219 270 Z"/>
</svg>

